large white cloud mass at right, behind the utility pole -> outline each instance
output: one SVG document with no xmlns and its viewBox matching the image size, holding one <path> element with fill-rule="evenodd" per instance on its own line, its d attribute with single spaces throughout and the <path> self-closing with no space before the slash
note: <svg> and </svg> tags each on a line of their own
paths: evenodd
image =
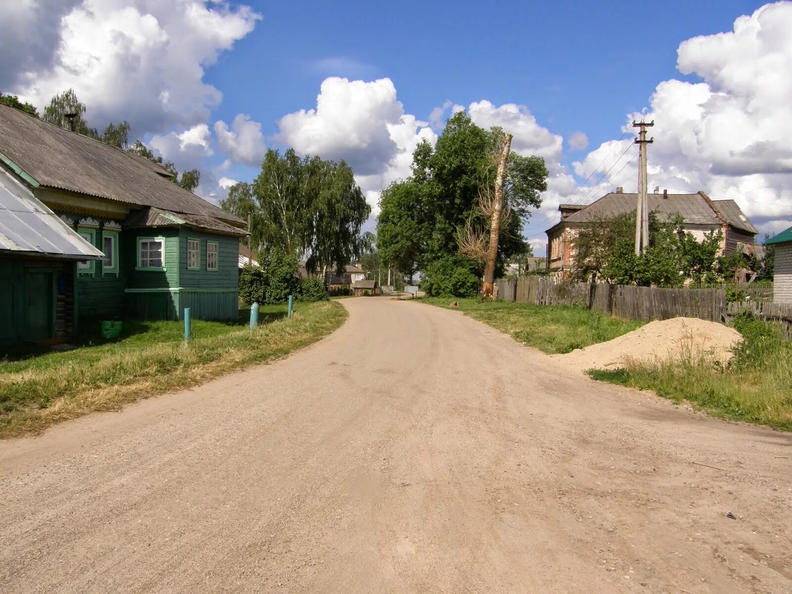
<svg viewBox="0 0 792 594">
<path fill-rule="evenodd" d="M 649 130 L 654 137 L 648 153 L 650 190 L 704 190 L 716 200 L 731 198 L 760 231 L 777 231 L 779 220 L 792 218 L 790 30 L 792 3 L 778 2 L 737 18 L 731 32 L 680 44 L 677 67 L 700 82 L 661 82 L 649 109 L 628 114 L 624 127 L 631 132 L 633 120 L 655 122 Z M 618 156 L 631 142 L 630 134 L 613 154 Z M 576 173 L 588 175 L 596 169 L 596 181 L 614 160 L 597 167 L 613 143 L 604 143 L 576 163 Z M 623 161 L 630 156 L 628 152 Z M 634 191 L 636 162 L 609 186 Z"/>
</svg>

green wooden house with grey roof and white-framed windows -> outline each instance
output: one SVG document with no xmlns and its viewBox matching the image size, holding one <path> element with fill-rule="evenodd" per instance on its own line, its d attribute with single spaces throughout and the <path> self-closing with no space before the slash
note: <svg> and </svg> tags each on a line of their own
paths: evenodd
<svg viewBox="0 0 792 594">
<path fill-rule="evenodd" d="M 35 336 L 20 333 L 26 314 L 14 310 L 17 330 L 0 342 L 68 337 L 78 320 L 177 320 L 185 307 L 194 318 L 238 317 L 238 246 L 246 223 L 174 184 L 162 166 L 0 105 L 0 169 L 101 254 L 74 255 L 83 258 L 77 263 L 59 256 L 58 271 L 42 282 L 70 296 L 39 307 L 59 308 L 62 322 Z M 52 233 L 31 230 L 40 236 L 32 243 Z M 10 261 L 17 275 L 27 274 L 29 263 L 0 242 L 0 287 L 10 282 Z"/>
</svg>

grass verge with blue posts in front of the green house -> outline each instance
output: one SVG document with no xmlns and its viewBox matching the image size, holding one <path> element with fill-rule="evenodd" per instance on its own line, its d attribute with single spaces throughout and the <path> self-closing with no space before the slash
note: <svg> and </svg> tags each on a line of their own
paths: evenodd
<svg viewBox="0 0 792 594">
<path fill-rule="evenodd" d="M 0 439 L 276 359 L 325 337 L 347 316 L 331 302 L 300 303 L 291 320 L 285 311 L 266 308 L 261 318 L 271 321 L 253 332 L 196 320 L 188 344 L 181 322 L 132 322 L 133 330 L 145 328 L 117 342 L 0 363 Z"/>
</svg>

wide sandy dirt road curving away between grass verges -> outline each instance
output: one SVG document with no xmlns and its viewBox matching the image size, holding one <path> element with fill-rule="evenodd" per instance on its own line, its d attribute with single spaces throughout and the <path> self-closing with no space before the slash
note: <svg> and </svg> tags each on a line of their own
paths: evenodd
<svg viewBox="0 0 792 594">
<path fill-rule="evenodd" d="M 792 592 L 792 436 L 344 303 L 286 360 L 0 443 L 0 592 Z"/>
</svg>

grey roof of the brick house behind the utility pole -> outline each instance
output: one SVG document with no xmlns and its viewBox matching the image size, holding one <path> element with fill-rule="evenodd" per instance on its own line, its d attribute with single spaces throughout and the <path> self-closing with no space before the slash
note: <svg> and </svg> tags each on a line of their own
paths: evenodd
<svg viewBox="0 0 792 594">
<path fill-rule="evenodd" d="M 672 215 L 678 212 L 685 223 L 695 225 L 720 225 L 718 215 L 707 203 L 701 194 L 649 194 L 649 210 L 658 211 L 661 218 L 665 215 Z M 569 215 L 565 223 L 592 223 L 601 219 L 609 219 L 615 215 L 634 211 L 638 194 L 626 194 L 621 192 L 611 192 L 600 200 L 592 202 L 586 208 Z M 743 215 L 740 207 L 733 200 L 713 200 L 713 204 L 722 213 L 724 219 L 734 227 L 748 230 L 756 234 L 756 227 L 753 227 L 748 218 Z M 728 204 L 727 204 L 728 203 Z M 741 218 L 744 217 L 744 220 Z"/>
</svg>

